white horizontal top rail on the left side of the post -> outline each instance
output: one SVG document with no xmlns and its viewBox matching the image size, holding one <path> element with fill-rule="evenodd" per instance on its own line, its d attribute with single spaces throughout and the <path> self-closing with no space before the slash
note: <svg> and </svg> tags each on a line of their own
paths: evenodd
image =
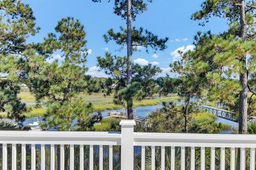
<svg viewBox="0 0 256 170">
<path fill-rule="evenodd" d="M 121 134 L 118 132 L 0 131 L 0 142 L 44 145 L 121 145 Z"/>
</svg>

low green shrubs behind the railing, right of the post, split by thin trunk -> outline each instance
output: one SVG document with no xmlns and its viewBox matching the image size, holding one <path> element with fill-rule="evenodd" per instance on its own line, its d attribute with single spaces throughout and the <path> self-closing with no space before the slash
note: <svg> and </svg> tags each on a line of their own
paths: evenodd
<svg viewBox="0 0 256 170">
<path fill-rule="evenodd" d="M 185 120 L 182 118 L 182 106 L 176 106 L 173 103 L 163 103 L 161 109 L 149 114 L 148 122 L 145 129 L 146 132 L 164 132 L 164 133 L 183 133 Z M 189 133 L 220 133 L 221 131 L 230 130 L 231 127 L 216 123 L 217 116 L 189 108 L 188 115 L 188 131 Z"/>
</svg>

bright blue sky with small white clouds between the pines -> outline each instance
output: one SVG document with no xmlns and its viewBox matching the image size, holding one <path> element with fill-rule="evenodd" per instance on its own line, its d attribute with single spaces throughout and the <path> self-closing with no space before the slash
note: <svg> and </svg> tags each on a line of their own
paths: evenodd
<svg viewBox="0 0 256 170">
<path fill-rule="evenodd" d="M 61 18 L 74 16 L 79 19 L 86 31 L 86 47 L 90 49 L 91 54 L 87 56 L 86 66 L 89 67 L 91 75 L 101 76 L 97 73 L 97 56 L 103 56 L 105 51 L 112 54 L 124 56 L 126 50 L 118 52 L 119 46 L 113 43 L 106 44 L 102 35 L 108 29 L 113 28 L 118 31 L 122 25 L 125 27 L 125 21 L 113 13 L 113 0 L 102 0 L 102 3 L 93 3 L 91 0 L 23 0 L 29 4 L 36 16 L 38 27 L 41 31 L 29 41 L 42 42 L 43 38 L 49 32 L 54 31 L 55 25 Z M 169 37 L 167 49 L 163 52 L 145 49 L 133 54 L 133 60 L 140 64 L 153 63 L 163 69 L 163 74 L 169 71 L 171 62 L 177 60 L 179 56 L 175 53 L 177 49 L 188 50 L 193 43 L 193 37 L 197 31 L 211 30 L 218 33 L 227 29 L 225 20 L 212 18 L 205 27 L 199 26 L 198 21 L 190 20 L 193 12 L 200 9 L 203 0 L 153 0 L 148 4 L 148 10 L 137 17 L 132 23 L 137 28 L 143 27 L 155 33 L 160 38 Z M 154 55 L 155 54 L 155 55 Z M 55 54 L 58 58 L 58 54 Z"/>
</svg>

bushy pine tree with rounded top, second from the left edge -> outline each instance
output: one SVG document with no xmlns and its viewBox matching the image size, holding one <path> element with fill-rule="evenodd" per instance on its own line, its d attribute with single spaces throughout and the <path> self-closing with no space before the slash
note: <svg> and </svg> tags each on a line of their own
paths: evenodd
<svg viewBox="0 0 256 170">
<path fill-rule="evenodd" d="M 42 126 L 71 131 L 74 124 L 86 122 L 93 110 L 82 98 L 87 87 L 85 31 L 78 20 L 70 17 L 61 19 L 55 31 L 41 44 L 45 55 L 30 54 L 29 65 L 33 67 L 30 67 L 29 87 L 38 102 L 46 99 L 47 122 Z M 60 52 L 62 60 L 47 63 L 46 59 L 55 52 Z"/>
</svg>

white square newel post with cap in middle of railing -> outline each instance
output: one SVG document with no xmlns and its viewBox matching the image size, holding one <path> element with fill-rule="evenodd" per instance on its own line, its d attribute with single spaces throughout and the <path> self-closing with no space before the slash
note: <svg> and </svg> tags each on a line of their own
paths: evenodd
<svg viewBox="0 0 256 170">
<path fill-rule="evenodd" d="M 133 126 L 134 120 L 122 120 L 121 130 L 121 170 L 133 169 Z"/>
</svg>

